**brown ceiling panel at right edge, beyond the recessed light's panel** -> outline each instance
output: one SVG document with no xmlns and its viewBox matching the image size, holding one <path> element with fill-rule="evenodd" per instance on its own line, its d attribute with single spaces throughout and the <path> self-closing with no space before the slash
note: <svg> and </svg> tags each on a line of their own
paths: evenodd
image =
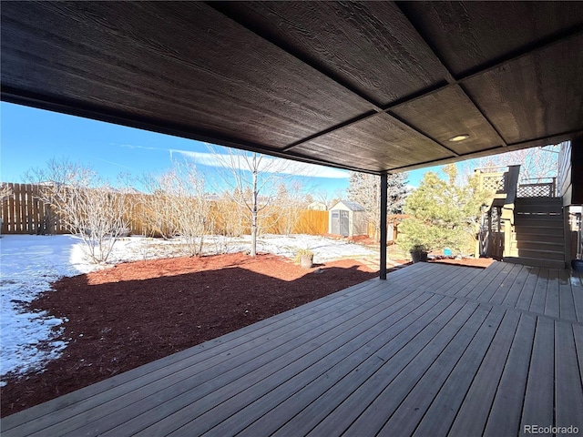
<svg viewBox="0 0 583 437">
<path fill-rule="evenodd" d="M 583 36 L 468 79 L 465 90 L 506 143 L 583 128 Z"/>
</svg>

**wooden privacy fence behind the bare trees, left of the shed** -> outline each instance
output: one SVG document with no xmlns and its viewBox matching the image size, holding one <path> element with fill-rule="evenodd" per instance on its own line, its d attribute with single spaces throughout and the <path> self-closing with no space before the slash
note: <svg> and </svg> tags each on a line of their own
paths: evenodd
<svg viewBox="0 0 583 437">
<path fill-rule="evenodd" d="M 3 234 L 65 234 L 67 229 L 60 223 L 55 211 L 39 200 L 39 189 L 32 184 L 2 183 L 9 194 L 2 198 L 2 233 Z M 148 234 L 148 224 L 144 222 L 145 207 L 136 194 L 126 195 L 128 201 L 129 231 L 132 234 Z M 220 219 L 220 208 L 216 202 L 210 208 L 210 217 L 216 233 L 224 233 L 224 220 Z M 229 208 L 228 208 L 229 209 Z M 275 209 L 275 208 L 274 208 Z M 231 208 L 232 210 L 232 208 Z M 277 220 L 274 213 L 266 211 L 263 216 L 262 229 L 269 233 L 284 233 L 284 220 Z M 328 232 L 328 211 L 298 209 L 293 218 L 292 233 L 322 235 Z M 243 232 L 249 233 L 251 226 L 242 219 Z M 248 229 L 249 228 L 249 229 Z"/>
</svg>

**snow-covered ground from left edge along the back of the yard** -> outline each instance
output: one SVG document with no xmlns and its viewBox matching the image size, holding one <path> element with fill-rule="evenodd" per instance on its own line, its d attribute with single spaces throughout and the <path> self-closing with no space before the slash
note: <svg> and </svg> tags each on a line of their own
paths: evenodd
<svg viewBox="0 0 583 437">
<path fill-rule="evenodd" d="M 250 248 L 251 237 L 225 239 L 211 236 L 204 253 L 234 253 Z M 311 249 L 314 262 L 342 258 L 373 257 L 376 251 L 345 240 L 311 235 L 263 235 L 257 250 L 293 258 L 298 249 Z M 180 239 L 144 237 L 120 239 L 107 265 L 140 259 L 183 256 Z M 50 289 L 50 283 L 63 276 L 74 276 L 107 266 L 91 264 L 80 239 L 71 235 L 5 235 L 0 238 L 0 378 L 8 372 L 24 374 L 42 371 L 43 364 L 58 358 L 66 342 L 56 340 L 66 320 L 46 312 L 23 308 L 36 295 Z M 39 347 L 42 346 L 42 347 Z M 0 385 L 4 385 L 0 381 Z"/>
</svg>

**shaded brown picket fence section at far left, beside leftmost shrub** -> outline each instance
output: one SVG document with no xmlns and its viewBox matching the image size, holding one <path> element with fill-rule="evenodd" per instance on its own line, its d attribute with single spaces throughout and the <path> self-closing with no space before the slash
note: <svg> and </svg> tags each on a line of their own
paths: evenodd
<svg viewBox="0 0 583 437">
<path fill-rule="evenodd" d="M 38 186 L 3 183 L 8 194 L 2 199 L 3 234 L 65 234 L 53 208 L 38 199 Z"/>
</svg>

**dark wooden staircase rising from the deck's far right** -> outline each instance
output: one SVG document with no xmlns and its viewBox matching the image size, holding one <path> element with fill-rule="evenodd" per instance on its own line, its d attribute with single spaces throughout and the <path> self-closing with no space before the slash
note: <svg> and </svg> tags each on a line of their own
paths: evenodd
<svg viewBox="0 0 583 437">
<path fill-rule="evenodd" d="M 565 269 L 561 198 L 516 198 L 514 227 L 506 262 Z"/>
</svg>

